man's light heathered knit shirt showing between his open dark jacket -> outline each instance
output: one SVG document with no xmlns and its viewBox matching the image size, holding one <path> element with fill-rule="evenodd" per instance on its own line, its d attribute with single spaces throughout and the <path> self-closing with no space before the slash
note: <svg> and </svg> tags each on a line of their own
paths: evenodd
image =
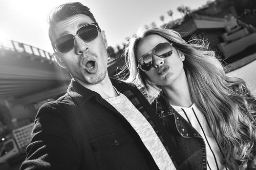
<svg viewBox="0 0 256 170">
<path fill-rule="evenodd" d="M 163 143 L 148 120 L 137 110 L 125 95 L 122 93 L 119 94 L 119 96 L 108 98 L 106 101 L 127 119 L 140 136 L 142 142 L 149 150 L 149 153 L 152 155 L 160 170 L 176 170 Z"/>
</svg>

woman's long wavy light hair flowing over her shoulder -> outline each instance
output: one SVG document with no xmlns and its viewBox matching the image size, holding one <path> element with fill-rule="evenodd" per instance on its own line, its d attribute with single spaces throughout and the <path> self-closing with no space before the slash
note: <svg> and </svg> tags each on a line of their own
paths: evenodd
<svg viewBox="0 0 256 170">
<path fill-rule="evenodd" d="M 185 55 L 183 64 L 192 101 L 205 114 L 213 136 L 225 155 L 225 166 L 231 170 L 256 169 L 256 99 L 242 79 L 225 74 L 214 51 L 208 51 L 208 45 L 203 40 L 185 42 L 173 30 L 155 27 L 140 29 L 126 46 L 126 66 L 122 72 L 128 71 L 128 74 L 123 80 L 145 88 L 146 96 L 150 96 L 152 89 L 159 88 L 145 72 L 138 69 L 135 58 L 137 44 L 149 34 L 166 38 Z"/>
</svg>

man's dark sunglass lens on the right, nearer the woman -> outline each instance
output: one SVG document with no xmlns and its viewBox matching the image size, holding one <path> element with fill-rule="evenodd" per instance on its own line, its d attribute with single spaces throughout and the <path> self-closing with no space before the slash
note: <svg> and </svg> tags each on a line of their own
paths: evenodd
<svg viewBox="0 0 256 170">
<path fill-rule="evenodd" d="M 79 36 L 86 42 L 94 40 L 98 36 L 98 31 L 95 25 L 87 25 L 82 27 L 79 32 Z"/>
</svg>

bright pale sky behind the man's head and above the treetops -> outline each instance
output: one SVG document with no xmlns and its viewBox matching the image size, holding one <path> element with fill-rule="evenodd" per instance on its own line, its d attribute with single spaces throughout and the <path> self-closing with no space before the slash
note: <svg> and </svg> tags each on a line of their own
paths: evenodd
<svg viewBox="0 0 256 170">
<path fill-rule="evenodd" d="M 137 29 L 155 22 L 157 26 L 180 18 L 177 7 L 189 6 L 192 10 L 208 0 L 0 0 L 0 41 L 14 40 L 53 53 L 48 38 L 47 16 L 49 12 L 70 1 L 78 1 L 91 9 L 96 21 L 105 31 L 108 46 L 126 43 Z"/>
</svg>

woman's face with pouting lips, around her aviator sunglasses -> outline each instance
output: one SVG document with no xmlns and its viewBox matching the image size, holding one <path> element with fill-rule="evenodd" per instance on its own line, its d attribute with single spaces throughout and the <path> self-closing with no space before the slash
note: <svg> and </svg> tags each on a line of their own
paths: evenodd
<svg viewBox="0 0 256 170">
<path fill-rule="evenodd" d="M 151 54 L 152 66 L 149 71 L 146 71 L 145 73 L 149 76 L 153 83 L 163 86 L 172 84 L 179 77 L 181 77 L 181 74 L 185 75 L 185 71 L 183 69 L 182 62 L 184 60 L 184 55 L 175 50 L 173 46 L 172 53 L 169 53 L 171 55 L 163 55 L 165 56 L 164 58 L 152 53 L 155 47 L 161 43 L 169 42 L 167 39 L 157 34 L 147 35 L 138 43 L 137 48 L 135 49 L 135 55 L 138 62 L 139 59 L 145 54 Z M 155 50 L 155 52 L 157 52 L 157 50 Z M 140 60 L 140 63 L 143 63 L 141 61 L 142 59 Z"/>
</svg>

